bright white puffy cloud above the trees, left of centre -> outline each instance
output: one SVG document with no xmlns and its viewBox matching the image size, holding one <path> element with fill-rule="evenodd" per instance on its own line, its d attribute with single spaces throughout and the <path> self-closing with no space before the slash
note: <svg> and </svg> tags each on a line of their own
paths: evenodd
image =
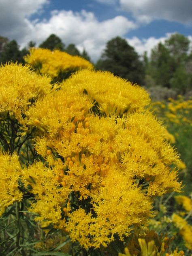
<svg viewBox="0 0 192 256">
<path fill-rule="evenodd" d="M 37 43 L 42 42 L 54 32 L 66 45 L 74 43 L 80 51 L 85 48 L 95 61 L 99 58 L 107 41 L 117 35 L 123 36 L 134 28 L 136 28 L 135 23 L 126 17 L 116 16 L 113 19 L 99 22 L 93 13 L 83 10 L 80 13 L 52 12 L 48 21 L 34 24 L 32 30 L 34 41 Z M 25 36 L 24 41 L 29 41 L 30 36 L 31 34 Z"/>
</svg>

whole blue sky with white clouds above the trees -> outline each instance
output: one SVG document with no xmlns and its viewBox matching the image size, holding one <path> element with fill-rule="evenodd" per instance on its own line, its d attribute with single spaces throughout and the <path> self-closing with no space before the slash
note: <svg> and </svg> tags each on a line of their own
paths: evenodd
<svg viewBox="0 0 192 256">
<path fill-rule="evenodd" d="M 192 0 L 0 0 L 1 36 L 24 47 L 54 33 L 94 62 L 115 36 L 150 55 L 175 32 L 192 41 Z"/>
</svg>

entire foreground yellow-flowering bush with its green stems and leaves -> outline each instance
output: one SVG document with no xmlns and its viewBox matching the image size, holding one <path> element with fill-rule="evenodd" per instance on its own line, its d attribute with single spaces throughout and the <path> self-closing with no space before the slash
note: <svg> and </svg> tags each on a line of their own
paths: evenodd
<svg viewBox="0 0 192 256">
<path fill-rule="evenodd" d="M 145 236 L 154 198 L 181 190 L 179 157 L 147 92 L 72 56 L 81 70 L 54 84 L 63 56 L 32 49 L 38 74 L 0 68 L 3 254 L 117 255 Z"/>
</svg>

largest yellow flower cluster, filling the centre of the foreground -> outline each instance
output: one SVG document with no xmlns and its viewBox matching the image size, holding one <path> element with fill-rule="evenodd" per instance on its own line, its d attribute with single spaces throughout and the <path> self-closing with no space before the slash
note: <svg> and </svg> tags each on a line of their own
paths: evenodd
<svg viewBox="0 0 192 256">
<path fill-rule="evenodd" d="M 146 226 L 151 196 L 181 186 L 170 167 L 179 158 L 148 104 L 141 87 L 90 70 L 36 100 L 25 120 L 36 127 L 35 148 L 46 162 L 22 177 L 36 197 L 36 220 L 66 230 L 85 248 Z"/>
</svg>

